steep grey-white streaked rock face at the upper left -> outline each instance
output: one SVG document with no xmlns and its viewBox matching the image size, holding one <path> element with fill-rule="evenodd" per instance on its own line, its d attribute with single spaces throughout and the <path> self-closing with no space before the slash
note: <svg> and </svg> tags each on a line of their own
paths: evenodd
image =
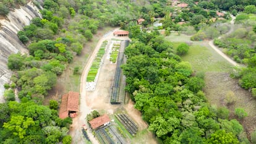
<svg viewBox="0 0 256 144">
<path fill-rule="evenodd" d="M 39 0 L 38 2 L 41 1 Z M 42 7 L 40 7 L 42 9 Z M 29 25 L 34 17 L 41 17 L 38 7 L 32 2 L 9 12 L 7 19 L 0 19 L 0 103 L 4 103 L 4 83 L 8 83 L 12 75 L 7 67 L 8 56 L 13 53 L 28 53 L 25 45 L 19 40 L 17 33 Z"/>
</svg>

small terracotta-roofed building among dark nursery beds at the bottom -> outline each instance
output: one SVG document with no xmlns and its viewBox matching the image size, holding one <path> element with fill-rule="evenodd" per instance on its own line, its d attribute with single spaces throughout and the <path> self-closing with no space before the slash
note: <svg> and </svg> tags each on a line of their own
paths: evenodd
<svg viewBox="0 0 256 144">
<path fill-rule="evenodd" d="M 92 129 L 97 129 L 101 127 L 102 125 L 109 124 L 110 119 L 107 114 L 104 114 L 103 116 L 96 117 L 92 121 L 89 121 Z"/>
</svg>

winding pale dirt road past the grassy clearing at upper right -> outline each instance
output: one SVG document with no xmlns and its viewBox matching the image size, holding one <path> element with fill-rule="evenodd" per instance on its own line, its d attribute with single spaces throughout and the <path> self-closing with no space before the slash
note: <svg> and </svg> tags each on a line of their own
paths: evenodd
<svg viewBox="0 0 256 144">
<path fill-rule="evenodd" d="M 234 19 L 236 17 L 234 17 L 233 15 L 231 15 L 231 28 L 229 30 L 228 33 L 226 33 L 225 35 L 229 35 L 230 33 L 232 33 L 234 31 Z M 222 36 L 219 36 L 218 39 L 221 39 Z M 213 44 L 213 40 L 209 41 L 209 45 L 211 46 L 211 48 L 213 48 L 218 54 L 220 54 L 224 59 L 226 59 L 228 62 L 230 62 L 231 64 L 233 64 L 233 66 L 241 66 L 240 64 L 237 64 L 237 62 L 233 61 L 233 59 L 229 58 L 228 56 L 226 56 L 226 54 L 224 54 L 222 51 L 220 51 L 220 49 L 218 49 L 217 46 L 215 46 Z"/>
</svg>

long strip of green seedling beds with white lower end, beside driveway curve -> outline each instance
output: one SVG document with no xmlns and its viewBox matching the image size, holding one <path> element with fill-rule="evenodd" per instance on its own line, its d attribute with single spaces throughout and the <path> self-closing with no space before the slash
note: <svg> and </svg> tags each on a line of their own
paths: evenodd
<svg viewBox="0 0 256 144">
<path fill-rule="evenodd" d="M 95 90 L 96 82 L 98 80 L 98 70 L 103 62 L 103 56 L 105 54 L 106 45 L 108 41 L 104 41 L 97 53 L 97 56 L 93 60 L 92 66 L 87 75 L 86 90 Z"/>
</svg>

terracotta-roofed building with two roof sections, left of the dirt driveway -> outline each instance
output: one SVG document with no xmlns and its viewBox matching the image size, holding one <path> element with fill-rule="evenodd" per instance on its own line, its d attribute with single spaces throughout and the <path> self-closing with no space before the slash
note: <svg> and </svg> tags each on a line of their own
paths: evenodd
<svg viewBox="0 0 256 144">
<path fill-rule="evenodd" d="M 79 111 L 79 93 L 69 91 L 69 93 L 62 95 L 59 118 L 65 119 L 70 112 L 77 111 Z"/>
</svg>

